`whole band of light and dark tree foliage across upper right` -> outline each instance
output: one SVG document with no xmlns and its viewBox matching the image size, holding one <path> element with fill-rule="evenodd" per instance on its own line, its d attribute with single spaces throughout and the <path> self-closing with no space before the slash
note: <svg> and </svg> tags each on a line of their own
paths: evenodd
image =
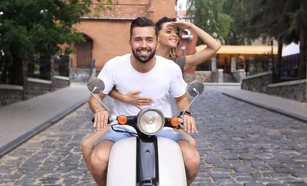
<svg viewBox="0 0 307 186">
<path fill-rule="evenodd" d="M 305 0 L 188 0 L 187 4 L 193 23 L 222 44 L 249 44 L 259 37 L 297 42 L 299 29 L 307 26 Z"/>
</svg>

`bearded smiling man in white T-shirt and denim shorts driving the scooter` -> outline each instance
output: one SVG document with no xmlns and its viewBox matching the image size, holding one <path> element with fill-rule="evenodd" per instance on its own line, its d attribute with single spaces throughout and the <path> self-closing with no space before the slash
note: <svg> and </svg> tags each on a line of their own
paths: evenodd
<svg viewBox="0 0 307 186">
<path fill-rule="evenodd" d="M 189 105 L 189 99 L 185 92 L 185 82 L 182 78 L 181 69 L 173 61 L 155 56 L 159 45 L 158 29 L 149 18 L 138 17 L 131 23 L 129 45 L 132 55 L 126 54 L 109 60 L 98 75 L 98 78 L 102 79 L 105 84 L 105 89 L 98 95 L 99 98 L 103 100 L 109 91 L 116 86 L 121 94 L 127 94 L 127 92 L 136 89 L 141 90 L 141 96 L 153 98 L 155 102 L 152 103 L 152 106 L 159 108 L 165 117 L 172 117 L 170 104 L 167 101 L 169 94 L 175 98 L 178 111 L 185 110 Z M 108 112 L 92 96 L 89 99 L 89 105 L 95 113 L 97 128 L 105 128 Z M 140 111 L 134 105 L 117 100 L 114 100 L 113 106 L 114 113 L 117 115 L 137 115 Z M 184 118 L 185 125 L 193 129 L 195 126 L 194 119 L 189 115 L 185 115 Z M 115 128 L 134 131 L 129 126 L 117 126 Z M 182 134 L 169 128 L 163 129 L 157 136 L 166 137 L 178 143 L 183 154 L 187 184 L 190 185 L 200 166 L 198 152 Z M 129 137 L 129 134 L 109 130 L 96 143 L 91 155 L 91 166 L 94 179 L 100 186 L 106 184 L 107 163 L 112 146 L 126 137 Z"/>
</svg>

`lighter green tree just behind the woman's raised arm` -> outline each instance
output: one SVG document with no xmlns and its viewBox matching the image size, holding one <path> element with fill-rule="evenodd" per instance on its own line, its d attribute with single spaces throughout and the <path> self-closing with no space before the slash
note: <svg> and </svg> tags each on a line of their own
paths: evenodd
<svg viewBox="0 0 307 186">
<path fill-rule="evenodd" d="M 187 15 L 195 25 L 221 40 L 222 44 L 245 45 L 257 38 L 255 34 L 248 34 L 243 24 L 254 11 L 249 9 L 253 6 L 247 5 L 245 1 L 188 0 Z M 202 41 L 198 44 L 202 44 Z"/>
</svg>

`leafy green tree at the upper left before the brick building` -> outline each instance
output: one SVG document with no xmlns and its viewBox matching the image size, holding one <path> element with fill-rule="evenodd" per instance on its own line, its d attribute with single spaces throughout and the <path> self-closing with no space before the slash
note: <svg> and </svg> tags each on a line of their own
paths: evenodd
<svg viewBox="0 0 307 186">
<path fill-rule="evenodd" d="M 98 9 L 111 9 L 112 0 Z M 0 1 L 0 61 L 11 63 L 22 84 L 20 68 L 29 54 L 54 55 L 60 45 L 84 41 L 73 25 L 91 13 L 92 0 L 2 0 Z M 69 51 L 69 48 L 66 50 Z M 18 73 L 19 72 L 19 73 Z"/>
</svg>

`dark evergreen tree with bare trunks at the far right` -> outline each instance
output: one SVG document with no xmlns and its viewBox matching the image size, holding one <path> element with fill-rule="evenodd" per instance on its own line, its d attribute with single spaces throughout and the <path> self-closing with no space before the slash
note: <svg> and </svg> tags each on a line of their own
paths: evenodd
<svg viewBox="0 0 307 186">
<path fill-rule="evenodd" d="M 305 0 L 280 0 L 278 4 L 274 0 L 261 0 L 255 4 L 259 11 L 245 21 L 250 28 L 247 32 L 275 38 L 278 41 L 277 61 L 281 61 L 283 43 L 300 41 L 300 64 L 303 65 L 306 63 L 306 6 Z"/>
</svg>

